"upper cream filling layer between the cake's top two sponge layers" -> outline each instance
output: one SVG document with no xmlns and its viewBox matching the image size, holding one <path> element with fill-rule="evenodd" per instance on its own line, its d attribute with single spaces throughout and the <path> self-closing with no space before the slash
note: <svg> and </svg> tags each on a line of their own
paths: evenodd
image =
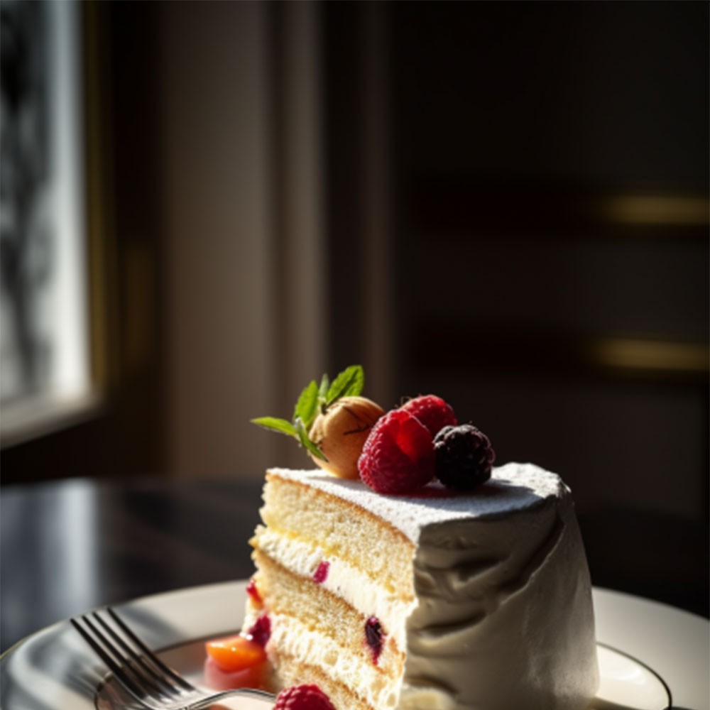
<svg viewBox="0 0 710 710">
<path fill-rule="evenodd" d="M 339 596 L 364 616 L 376 616 L 398 648 L 405 650 L 406 621 L 415 608 L 416 601 L 407 601 L 388 594 L 376 580 L 368 577 L 361 569 L 343 559 L 329 558 L 322 547 L 299 540 L 293 535 L 260 525 L 256 528 L 254 544 L 258 550 L 282 567 L 308 579 L 313 579 L 319 565 L 327 562 L 325 579 L 318 584 Z"/>
</svg>

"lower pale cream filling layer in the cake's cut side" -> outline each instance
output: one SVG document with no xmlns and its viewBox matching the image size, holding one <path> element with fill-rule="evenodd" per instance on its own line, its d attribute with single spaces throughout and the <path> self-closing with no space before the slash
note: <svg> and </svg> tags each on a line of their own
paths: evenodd
<svg viewBox="0 0 710 710">
<path fill-rule="evenodd" d="M 293 616 L 275 614 L 272 621 L 273 632 L 267 651 L 273 644 L 279 653 L 324 669 L 332 679 L 350 688 L 375 708 L 397 707 L 401 679 L 378 671 L 375 665 L 342 648 L 328 636 L 308 628 Z"/>
</svg>

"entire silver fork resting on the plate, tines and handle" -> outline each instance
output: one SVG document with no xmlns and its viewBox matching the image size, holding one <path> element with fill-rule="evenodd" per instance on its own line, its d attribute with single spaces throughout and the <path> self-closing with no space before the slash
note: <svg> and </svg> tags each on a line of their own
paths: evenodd
<svg viewBox="0 0 710 710">
<path fill-rule="evenodd" d="M 195 687 L 165 665 L 110 607 L 75 616 L 71 622 L 116 680 L 151 710 L 198 710 L 229 697 L 253 699 L 250 708 L 273 707 L 274 696 L 263 690 L 209 693 Z"/>
</svg>

